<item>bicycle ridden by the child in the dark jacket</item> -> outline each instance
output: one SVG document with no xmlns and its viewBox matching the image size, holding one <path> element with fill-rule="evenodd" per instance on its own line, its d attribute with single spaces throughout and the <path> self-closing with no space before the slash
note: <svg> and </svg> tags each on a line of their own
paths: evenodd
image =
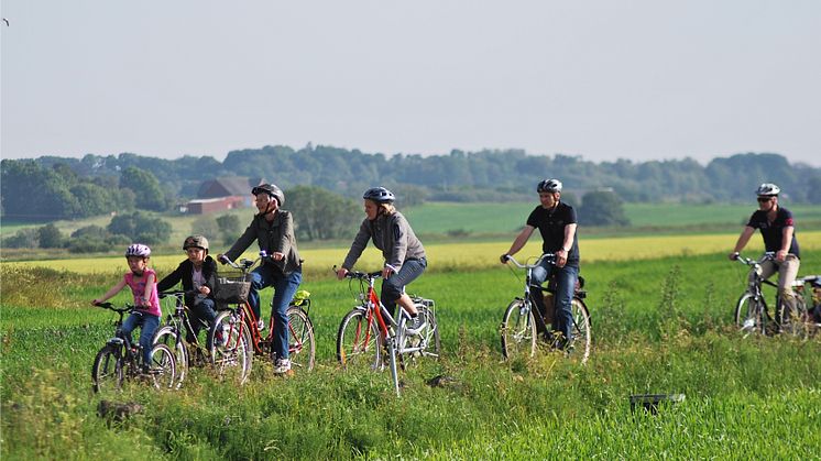
<svg viewBox="0 0 821 461">
<path fill-rule="evenodd" d="M 199 292 L 191 292 L 199 293 Z M 154 333 L 154 344 L 165 344 L 175 352 L 177 361 L 177 387 L 182 387 L 183 382 L 188 375 L 188 369 L 191 366 L 201 366 L 210 362 L 208 355 L 208 345 L 202 347 L 199 338 L 194 333 L 194 326 L 189 317 L 188 307 L 185 305 L 185 296 L 190 293 L 180 290 L 161 292 L 160 299 L 166 297 L 174 298 L 173 314 L 164 326 L 161 326 Z M 202 319 L 196 319 L 201 328 L 205 328 L 206 334 L 210 330 L 208 322 Z M 207 343 L 207 340 L 206 340 Z"/>
</svg>

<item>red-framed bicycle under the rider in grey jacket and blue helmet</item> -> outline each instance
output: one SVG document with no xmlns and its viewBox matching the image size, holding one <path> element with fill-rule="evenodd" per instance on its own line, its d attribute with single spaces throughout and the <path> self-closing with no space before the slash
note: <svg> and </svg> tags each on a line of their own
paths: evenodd
<svg viewBox="0 0 821 461">
<path fill-rule="evenodd" d="M 333 266 L 333 272 L 337 267 Z M 441 340 L 436 321 L 436 303 L 412 296 L 418 315 L 425 316 L 425 325 L 418 330 L 408 329 L 410 315 L 397 307 L 398 319 L 394 319 L 380 301 L 373 285 L 382 272 L 350 271 L 346 278 L 359 281 L 357 298 L 360 305 L 346 314 L 337 332 L 337 360 L 346 369 L 384 369 L 383 348 L 386 350 L 391 376 L 396 395 L 399 395 L 398 366 L 406 370 L 419 356 L 439 358 Z M 384 343 L 383 343 L 384 341 Z"/>
</svg>

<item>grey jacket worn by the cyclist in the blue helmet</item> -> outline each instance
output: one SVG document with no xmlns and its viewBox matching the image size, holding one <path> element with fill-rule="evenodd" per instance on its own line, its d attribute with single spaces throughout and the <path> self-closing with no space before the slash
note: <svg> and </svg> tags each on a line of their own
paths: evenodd
<svg viewBox="0 0 821 461">
<path fill-rule="evenodd" d="M 344 256 L 342 267 L 349 271 L 353 267 L 368 246 L 369 239 L 373 239 L 373 244 L 382 250 L 385 264 L 392 265 L 397 272 L 405 261 L 425 257 L 425 248 L 410 229 L 407 219 L 395 211 L 392 215 L 380 215 L 373 221 L 368 218 L 362 221 L 357 237 L 353 238 L 351 250 Z"/>
</svg>

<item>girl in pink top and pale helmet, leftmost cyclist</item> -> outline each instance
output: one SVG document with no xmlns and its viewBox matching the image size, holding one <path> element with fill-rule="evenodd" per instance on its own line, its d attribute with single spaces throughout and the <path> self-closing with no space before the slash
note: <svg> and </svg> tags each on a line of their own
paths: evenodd
<svg viewBox="0 0 821 461">
<path fill-rule="evenodd" d="M 105 295 L 91 300 L 92 306 L 105 303 L 120 293 L 127 285 L 134 296 L 134 310 L 122 322 L 122 333 L 131 337 L 136 327 L 141 327 L 140 345 L 143 348 L 143 365 L 151 363 L 151 348 L 154 332 L 160 326 L 163 312 L 160 310 L 160 297 L 156 290 L 156 273 L 149 267 L 151 249 L 142 243 L 134 243 L 125 250 L 130 272 L 111 287 Z"/>
</svg>

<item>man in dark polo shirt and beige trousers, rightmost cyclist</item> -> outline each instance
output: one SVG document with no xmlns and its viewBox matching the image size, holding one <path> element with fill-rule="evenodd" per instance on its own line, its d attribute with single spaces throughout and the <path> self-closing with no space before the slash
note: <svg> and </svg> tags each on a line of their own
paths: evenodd
<svg viewBox="0 0 821 461">
<path fill-rule="evenodd" d="M 738 252 L 744 250 L 755 230 L 760 230 L 765 250 L 776 254 L 775 261 L 765 261 L 762 264 L 762 277 L 768 278 L 778 271 L 778 295 L 790 311 L 795 311 L 796 297 L 792 292 L 792 282 L 798 275 L 800 252 L 792 213 L 778 206 L 778 193 L 780 191 L 781 189 L 775 184 L 764 183 L 758 186 L 756 190 L 758 209 L 753 212 L 749 222 L 738 235 L 730 259 L 738 257 Z"/>
</svg>

